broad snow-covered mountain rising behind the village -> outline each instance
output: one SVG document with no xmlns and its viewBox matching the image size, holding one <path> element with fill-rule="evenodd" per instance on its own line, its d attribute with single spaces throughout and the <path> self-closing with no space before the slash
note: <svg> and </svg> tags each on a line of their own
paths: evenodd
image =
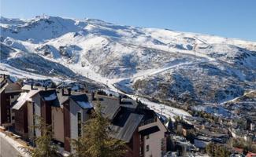
<svg viewBox="0 0 256 157">
<path fill-rule="evenodd" d="M 223 102 L 256 89 L 256 42 L 102 20 L 1 17 L 0 71 L 88 77 L 161 100 Z"/>
</svg>

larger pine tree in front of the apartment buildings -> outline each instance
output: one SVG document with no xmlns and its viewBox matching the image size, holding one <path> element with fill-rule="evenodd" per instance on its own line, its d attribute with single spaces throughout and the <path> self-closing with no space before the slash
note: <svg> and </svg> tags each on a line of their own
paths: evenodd
<svg viewBox="0 0 256 157">
<path fill-rule="evenodd" d="M 119 157 L 126 152 L 124 141 L 114 139 L 109 135 L 109 120 L 101 113 L 100 104 L 92 113 L 92 118 L 83 126 L 83 136 L 72 140 L 76 157 Z"/>
</svg>

